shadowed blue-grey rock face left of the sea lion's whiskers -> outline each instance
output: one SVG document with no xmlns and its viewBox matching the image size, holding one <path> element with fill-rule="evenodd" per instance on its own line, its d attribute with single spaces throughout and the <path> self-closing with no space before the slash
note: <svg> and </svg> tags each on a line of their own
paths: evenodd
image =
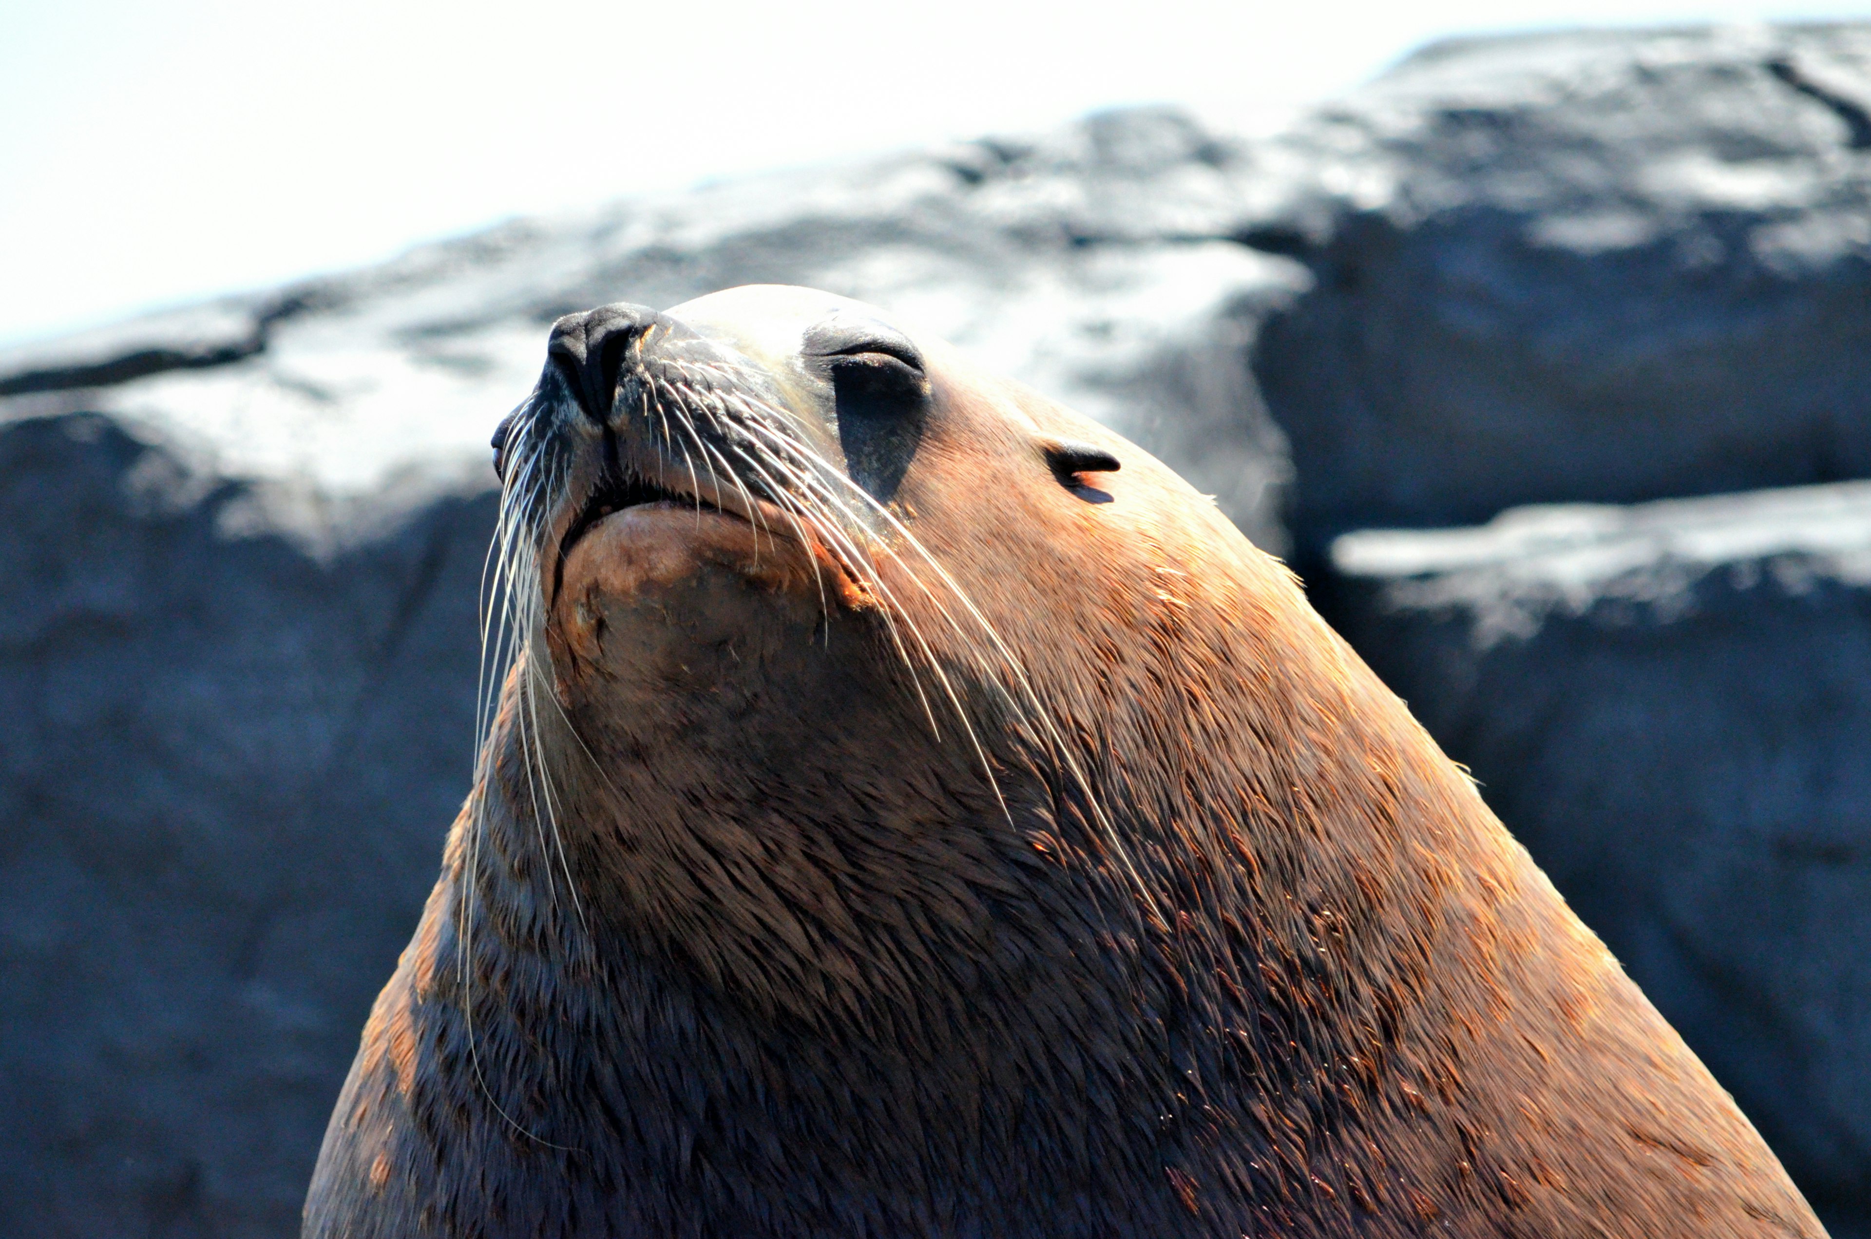
<svg viewBox="0 0 1871 1239">
<path fill-rule="evenodd" d="M 0 1233 L 297 1233 L 466 792 L 492 498 L 327 558 L 251 500 L 0 427 Z"/>
</svg>

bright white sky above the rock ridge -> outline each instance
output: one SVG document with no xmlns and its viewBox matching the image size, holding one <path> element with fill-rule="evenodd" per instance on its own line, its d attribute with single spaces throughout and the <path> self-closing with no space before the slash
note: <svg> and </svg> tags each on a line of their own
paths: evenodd
<svg viewBox="0 0 1871 1239">
<path fill-rule="evenodd" d="M 1263 131 L 1446 34 L 1828 17 L 1871 0 L 0 0 L 0 341 L 1121 103 Z"/>
</svg>

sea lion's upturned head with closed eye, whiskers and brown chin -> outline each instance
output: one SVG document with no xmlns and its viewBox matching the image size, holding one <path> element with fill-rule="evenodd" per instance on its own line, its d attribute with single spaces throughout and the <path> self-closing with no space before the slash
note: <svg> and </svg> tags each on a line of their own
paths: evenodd
<svg viewBox="0 0 1871 1239">
<path fill-rule="evenodd" d="M 1284 571 L 1141 449 L 879 309 L 747 286 L 561 318 L 496 455 L 513 786 L 586 900 L 803 1011 L 926 984 L 1035 863 L 1151 913 L 1095 767 L 1162 734 L 1190 605 Z"/>
</svg>

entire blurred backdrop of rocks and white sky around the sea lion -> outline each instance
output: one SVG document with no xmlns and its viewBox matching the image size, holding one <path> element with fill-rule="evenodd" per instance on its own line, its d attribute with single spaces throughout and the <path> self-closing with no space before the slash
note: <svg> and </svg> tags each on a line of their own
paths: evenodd
<svg viewBox="0 0 1871 1239">
<path fill-rule="evenodd" d="M 0 0 L 0 1233 L 296 1233 L 492 425 L 782 281 L 1285 556 L 1871 1235 L 1862 6 Z"/>
</svg>

